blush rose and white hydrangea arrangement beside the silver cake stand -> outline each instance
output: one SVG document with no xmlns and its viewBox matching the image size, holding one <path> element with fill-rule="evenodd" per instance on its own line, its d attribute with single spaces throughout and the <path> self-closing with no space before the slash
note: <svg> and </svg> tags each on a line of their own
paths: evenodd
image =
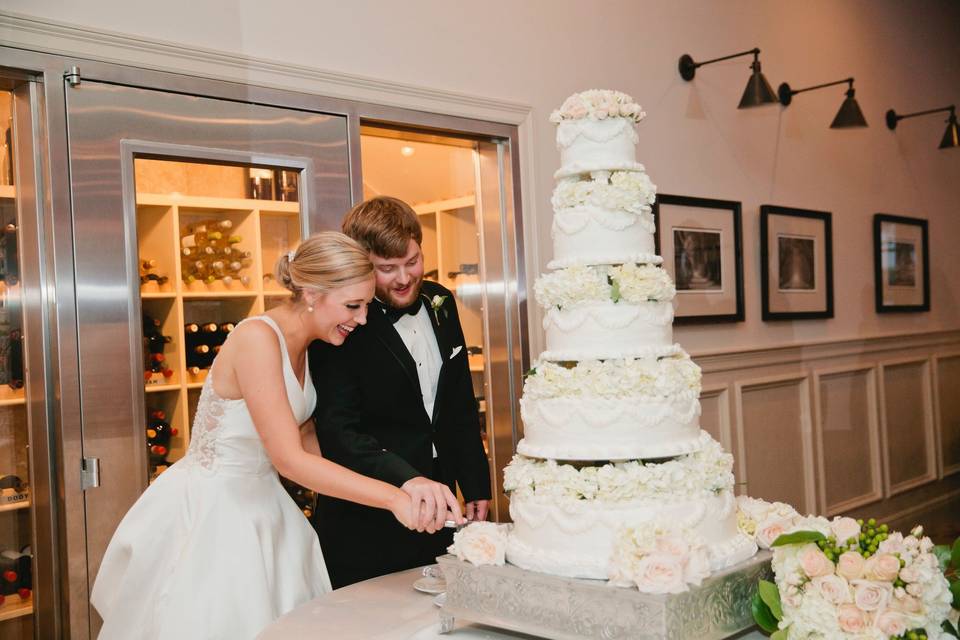
<svg viewBox="0 0 960 640">
<path fill-rule="evenodd" d="M 957 633 L 960 539 L 935 546 L 873 518 L 801 517 L 740 498 L 741 530 L 773 549 L 776 584 L 761 581 L 757 624 L 775 640 L 946 640 Z M 952 582 L 952 584 L 951 584 Z"/>
</svg>

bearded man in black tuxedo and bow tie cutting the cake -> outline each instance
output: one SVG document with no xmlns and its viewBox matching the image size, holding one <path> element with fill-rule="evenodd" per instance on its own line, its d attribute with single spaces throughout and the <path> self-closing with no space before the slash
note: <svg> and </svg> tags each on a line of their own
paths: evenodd
<svg viewBox="0 0 960 640">
<path fill-rule="evenodd" d="M 467 518 L 484 520 L 490 470 L 463 329 L 450 291 L 423 279 L 417 214 L 396 198 L 371 198 L 350 210 L 343 232 L 370 252 L 376 299 L 342 347 L 310 347 L 320 449 L 427 504 L 428 479 L 459 485 Z M 388 512 L 324 496 L 313 525 L 334 588 L 430 564 L 452 538 L 449 529 L 417 533 Z"/>
</svg>

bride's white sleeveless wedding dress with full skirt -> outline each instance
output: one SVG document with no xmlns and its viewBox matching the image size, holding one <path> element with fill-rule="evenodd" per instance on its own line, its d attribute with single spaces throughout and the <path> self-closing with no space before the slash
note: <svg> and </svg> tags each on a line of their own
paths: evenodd
<svg viewBox="0 0 960 640">
<path fill-rule="evenodd" d="M 280 339 L 298 424 L 317 396 Z M 251 319 L 252 320 L 252 319 Z M 242 399 L 219 397 L 208 375 L 187 454 L 140 496 L 107 547 L 90 600 L 100 640 L 242 640 L 330 591 L 316 533 L 280 484 Z"/>
</svg>

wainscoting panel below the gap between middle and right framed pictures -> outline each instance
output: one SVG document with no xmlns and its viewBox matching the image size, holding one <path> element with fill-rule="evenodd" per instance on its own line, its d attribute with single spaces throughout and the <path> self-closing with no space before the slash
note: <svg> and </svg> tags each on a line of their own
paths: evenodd
<svg viewBox="0 0 960 640">
<path fill-rule="evenodd" d="M 818 490 L 826 515 L 883 498 L 879 409 L 873 367 L 818 370 Z"/>
</svg>

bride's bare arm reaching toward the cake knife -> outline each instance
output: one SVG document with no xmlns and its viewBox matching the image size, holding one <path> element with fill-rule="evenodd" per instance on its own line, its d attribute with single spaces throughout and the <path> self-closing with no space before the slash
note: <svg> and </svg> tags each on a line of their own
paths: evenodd
<svg viewBox="0 0 960 640">
<path fill-rule="evenodd" d="M 435 520 L 414 513 L 409 496 L 402 490 L 304 449 L 287 399 L 280 343 L 270 327 L 261 322 L 245 323 L 231 335 L 229 343 L 229 351 L 224 346 L 218 358 L 228 356 L 267 455 L 281 475 L 324 495 L 387 509 L 407 527 L 430 532 L 436 529 Z"/>
</svg>

